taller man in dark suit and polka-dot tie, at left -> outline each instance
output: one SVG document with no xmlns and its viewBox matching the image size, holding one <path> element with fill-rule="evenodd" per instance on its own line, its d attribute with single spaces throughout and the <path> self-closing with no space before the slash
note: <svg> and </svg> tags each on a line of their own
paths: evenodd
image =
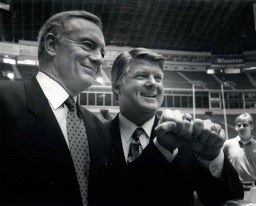
<svg viewBox="0 0 256 206">
<path fill-rule="evenodd" d="M 78 102 L 74 109 L 66 100 L 75 102 L 100 72 L 105 53 L 101 21 L 85 11 L 61 12 L 46 21 L 38 40 L 36 77 L 0 82 L 0 204 L 100 204 L 109 133 Z M 67 131 L 72 112 L 81 123 L 81 134 L 74 136 Z M 81 153 L 75 153 L 73 143 L 83 148 Z"/>
</svg>

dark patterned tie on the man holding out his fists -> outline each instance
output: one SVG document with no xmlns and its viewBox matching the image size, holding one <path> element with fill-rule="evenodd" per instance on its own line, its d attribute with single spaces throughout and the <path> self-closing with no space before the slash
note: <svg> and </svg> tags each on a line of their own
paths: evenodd
<svg viewBox="0 0 256 206">
<path fill-rule="evenodd" d="M 129 154 L 127 161 L 128 163 L 135 160 L 138 156 L 140 156 L 143 148 L 139 141 L 139 136 L 144 132 L 142 127 L 138 127 L 135 129 L 134 133 L 132 134 L 132 141 L 130 144 Z"/>
</svg>

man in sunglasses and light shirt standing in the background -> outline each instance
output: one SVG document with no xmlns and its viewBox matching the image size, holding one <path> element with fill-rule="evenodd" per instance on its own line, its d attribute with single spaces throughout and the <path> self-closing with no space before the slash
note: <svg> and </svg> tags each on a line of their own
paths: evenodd
<svg viewBox="0 0 256 206">
<path fill-rule="evenodd" d="M 256 140 L 251 135 L 253 118 L 244 113 L 236 118 L 235 123 L 238 135 L 225 141 L 223 150 L 244 186 L 244 200 L 256 202 Z"/>
</svg>

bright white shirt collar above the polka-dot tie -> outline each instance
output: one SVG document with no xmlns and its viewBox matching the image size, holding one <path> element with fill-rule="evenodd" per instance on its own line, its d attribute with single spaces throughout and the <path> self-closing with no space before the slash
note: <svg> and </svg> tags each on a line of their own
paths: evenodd
<svg viewBox="0 0 256 206">
<path fill-rule="evenodd" d="M 69 97 L 69 94 L 59 83 L 43 72 L 38 72 L 36 79 L 54 109 L 57 109 Z M 73 98 L 76 101 L 77 96 Z"/>
</svg>

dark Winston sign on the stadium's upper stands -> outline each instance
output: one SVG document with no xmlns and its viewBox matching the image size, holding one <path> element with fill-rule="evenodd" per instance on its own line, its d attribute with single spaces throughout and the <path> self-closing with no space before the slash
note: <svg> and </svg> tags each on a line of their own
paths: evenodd
<svg viewBox="0 0 256 206">
<path fill-rule="evenodd" d="M 244 65 L 243 56 L 211 56 L 212 65 Z"/>
</svg>

